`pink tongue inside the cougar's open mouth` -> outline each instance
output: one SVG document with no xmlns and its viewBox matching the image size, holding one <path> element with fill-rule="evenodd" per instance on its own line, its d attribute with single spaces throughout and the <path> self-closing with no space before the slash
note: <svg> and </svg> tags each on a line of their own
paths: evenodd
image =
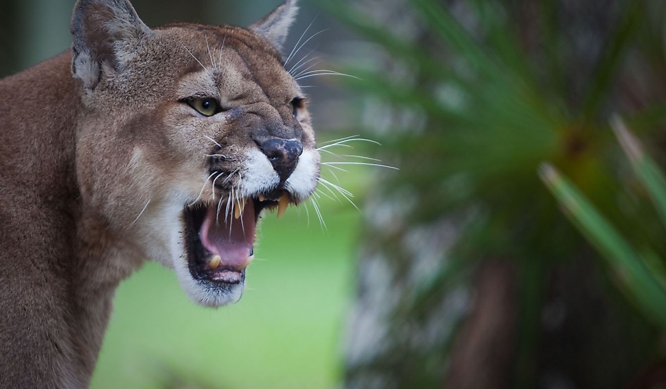
<svg viewBox="0 0 666 389">
<path fill-rule="evenodd" d="M 234 212 L 230 212 L 224 221 L 224 206 L 220 216 L 216 218 L 217 208 L 210 207 L 206 212 L 206 218 L 201 225 L 199 237 L 201 243 L 213 255 L 222 258 L 220 266 L 227 266 L 234 270 L 242 270 L 247 264 L 247 259 L 254 246 L 254 204 L 250 200 L 246 202 L 245 209 L 240 218 L 234 218 Z"/>
</svg>

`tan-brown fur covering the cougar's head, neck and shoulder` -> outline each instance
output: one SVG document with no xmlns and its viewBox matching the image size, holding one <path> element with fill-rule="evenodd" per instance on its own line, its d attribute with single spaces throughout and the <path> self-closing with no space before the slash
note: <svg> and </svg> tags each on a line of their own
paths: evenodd
<svg viewBox="0 0 666 389">
<path fill-rule="evenodd" d="M 87 386 L 119 282 L 144 260 L 177 270 L 182 210 L 214 202 L 210 182 L 201 190 L 208 154 L 251 171 L 266 163 L 252 159 L 258 141 L 298 139 L 315 167 L 311 188 L 301 176 L 308 189 L 292 196 L 303 201 L 316 184 L 314 132 L 306 109 L 296 119 L 288 106 L 303 93 L 274 48 L 282 42 L 240 27 L 151 30 L 125 0 L 77 9 L 75 55 L 0 81 L 1 388 Z M 96 34 L 114 45 L 99 46 Z M 233 109 L 200 117 L 180 101 L 197 94 Z M 249 188 L 241 179 L 228 184 Z"/>
</svg>

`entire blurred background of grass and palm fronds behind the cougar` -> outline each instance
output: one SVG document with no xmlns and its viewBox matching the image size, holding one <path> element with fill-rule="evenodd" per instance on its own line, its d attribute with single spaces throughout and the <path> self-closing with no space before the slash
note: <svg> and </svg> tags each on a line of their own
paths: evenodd
<svg viewBox="0 0 666 389">
<path fill-rule="evenodd" d="M 278 3 L 133 1 L 153 26 Z M 72 6 L 3 0 L 0 75 L 67 49 Z M 322 187 L 325 226 L 264 218 L 235 306 L 147 264 L 92 387 L 666 387 L 665 21 L 661 0 L 303 0 L 286 47 L 358 77 L 302 79 L 326 161 L 400 170 L 324 166 L 359 209 Z M 352 135 L 381 145 L 326 143 Z"/>
</svg>

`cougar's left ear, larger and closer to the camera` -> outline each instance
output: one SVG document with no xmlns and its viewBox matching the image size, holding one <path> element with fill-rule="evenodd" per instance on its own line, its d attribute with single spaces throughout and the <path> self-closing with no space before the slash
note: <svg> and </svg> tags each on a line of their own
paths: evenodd
<svg viewBox="0 0 666 389">
<path fill-rule="evenodd" d="M 129 0 L 78 0 L 70 29 L 72 73 L 89 89 L 102 72 L 122 71 L 141 39 L 153 33 Z"/>
</svg>

